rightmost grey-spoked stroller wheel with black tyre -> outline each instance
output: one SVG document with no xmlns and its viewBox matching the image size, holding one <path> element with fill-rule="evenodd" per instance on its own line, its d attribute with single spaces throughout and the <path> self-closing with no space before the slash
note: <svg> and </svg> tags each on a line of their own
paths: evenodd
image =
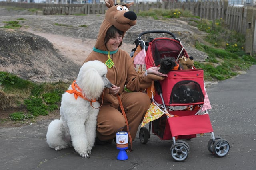
<svg viewBox="0 0 256 170">
<path fill-rule="evenodd" d="M 213 153 L 218 157 L 226 156 L 226 154 L 228 154 L 229 148 L 229 143 L 225 139 L 216 140 L 212 146 Z"/>
</svg>

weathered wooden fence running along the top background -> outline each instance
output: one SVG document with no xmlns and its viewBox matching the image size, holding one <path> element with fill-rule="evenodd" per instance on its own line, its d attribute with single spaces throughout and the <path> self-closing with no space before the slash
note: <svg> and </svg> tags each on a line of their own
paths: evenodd
<svg viewBox="0 0 256 170">
<path fill-rule="evenodd" d="M 38 8 L 44 15 L 54 14 L 105 14 L 108 9 L 105 4 L 35 4 L 0 2 L 1 6 L 16 6 L 22 8 Z M 227 0 L 197 1 L 197 2 L 163 2 L 163 3 L 136 3 L 130 10 L 135 13 L 150 9 L 182 9 L 188 10 L 195 16 L 208 20 L 222 18 L 230 29 L 242 33 L 246 37 L 245 52 L 256 53 L 255 19 L 256 9 L 253 7 L 228 6 Z"/>
</svg>

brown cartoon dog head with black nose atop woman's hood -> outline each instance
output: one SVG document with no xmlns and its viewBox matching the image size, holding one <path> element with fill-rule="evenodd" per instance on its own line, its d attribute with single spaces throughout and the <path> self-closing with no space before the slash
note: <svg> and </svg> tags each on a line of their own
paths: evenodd
<svg viewBox="0 0 256 170">
<path fill-rule="evenodd" d="M 108 10 L 105 13 L 105 20 L 110 25 L 114 25 L 120 31 L 126 32 L 131 26 L 134 26 L 137 21 L 137 15 L 133 11 L 129 11 L 129 8 L 134 4 L 118 5 L 114 4 L 113 0 L 105 0 Z"/>
</svg>

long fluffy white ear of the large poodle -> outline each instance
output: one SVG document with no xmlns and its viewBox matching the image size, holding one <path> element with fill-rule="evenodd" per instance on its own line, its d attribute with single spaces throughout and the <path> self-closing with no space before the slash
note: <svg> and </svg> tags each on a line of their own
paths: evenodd
<svg viewBox="0 0 256 170">
<path fill-rule="evenodd" d="M 80 88 L 82 88 L 83 95 L 88 99 L 100 97 L 104 89 L 104 82 L 98 71 L 92 68 L 84 72 Z"/>
</svg>

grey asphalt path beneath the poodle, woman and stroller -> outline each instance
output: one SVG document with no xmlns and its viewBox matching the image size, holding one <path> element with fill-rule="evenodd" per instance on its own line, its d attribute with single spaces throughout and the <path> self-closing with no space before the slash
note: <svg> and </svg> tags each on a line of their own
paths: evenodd
<svg viewBox="0 0 256 170">
<path fill-rule="evenodd" d="M 210 134 L 187 141 L 190 154 L 185 162 L 174 162 L 169 150 L 172 141 L 151 136 L 141 144 L 138 135 L 128 160 L 116 159 L 115 143 L 96 145 L 89 159 L 80 157 L 73 148 L 56 152 L 46 143 L 49 122 L 18 128 L 0 129 L 1 170 L 146 170 L 146 169 L 241 169 L 256 167 L 256 66 L 247 74 L 225 80 L 207 88 L 212 104 L 209 111 L 214 134 L 228 140 L 230 151 L 217 158 L 207 149 Z"/>
</svg>

